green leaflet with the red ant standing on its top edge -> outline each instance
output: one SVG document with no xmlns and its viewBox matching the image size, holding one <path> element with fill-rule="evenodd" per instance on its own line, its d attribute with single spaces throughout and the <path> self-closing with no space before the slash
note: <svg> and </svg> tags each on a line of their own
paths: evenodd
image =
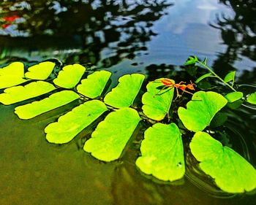
<svg viewBox="0 0 256 205">
<path fill-rule="evenodd" d="M 144 114 L 157 121 L 165 118 L 173 100 L 173 88 L 159 90 L 159 87 L 164 86 L 161 80 L 162 78 L 149 82 L 147 92 L 142 96 Z"/>
</svg>

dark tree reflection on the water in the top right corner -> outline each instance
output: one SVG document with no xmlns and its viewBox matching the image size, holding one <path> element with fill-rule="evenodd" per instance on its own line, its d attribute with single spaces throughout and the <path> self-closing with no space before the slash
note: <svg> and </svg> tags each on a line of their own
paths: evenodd
<svg viewBox="0 0 256 205">
<path fill-rule="evenodd" d="M 220 0 L 222 4 L 232 7 L 235 15 L 227 18 L 225 15 L 217 16 L 217 25 L 222 34 L 222 40 L 227 49 L 225 53 L 219 53 L 214 69 L 219 74 L 235 69 L 233 63 L 245 56 L 256 61 L 256 1 L 245 0 Z"/>
</svg>

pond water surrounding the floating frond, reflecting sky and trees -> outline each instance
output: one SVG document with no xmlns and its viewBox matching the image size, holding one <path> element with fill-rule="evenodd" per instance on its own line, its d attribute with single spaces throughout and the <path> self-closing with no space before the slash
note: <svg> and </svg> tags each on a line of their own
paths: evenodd
<svg viewBox="0 0 256 205">
<path fill-rule="evenodd" d="M 190 80 L 184 61 L 207 56 L 221 76 L 236 70 L 239 89 L 249 92 L 256 84 L 255 12 L 255 1 L 243 0 L 1 1 L 0 62 L 78 62 L 112 71 L 115 85 L 134 72 L 147 80 Z M 0 106 L 0 204 L 255 204 L 255 193 L 218 190 L 193 169 L 189 152 L 181 182 L 140 173 L 135 160 L 143 125 L 113 163 L 82 150 L 97 123 L 69 144 L 46 142 L 45 126 L 77 104 L 28 121 L 13 113 L 15 105 Z M 229 117 L 231 137 L 222 143 L 256 166 L 255 110 L 241 107 Z"/>
</svg>

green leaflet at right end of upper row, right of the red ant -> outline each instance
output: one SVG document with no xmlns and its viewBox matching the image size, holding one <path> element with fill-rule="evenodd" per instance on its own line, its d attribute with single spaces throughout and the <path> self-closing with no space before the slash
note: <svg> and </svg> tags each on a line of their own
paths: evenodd
<svg viewBox="0 0 256 205">
<path fill-rule="evenodd" d="M 203 131 L 225 104 L 227 99 L 219 93 L 199 91 L 187 103 L 187 109 L 178 108 L 178 117 L 189 131 Z"/>
</svg>

